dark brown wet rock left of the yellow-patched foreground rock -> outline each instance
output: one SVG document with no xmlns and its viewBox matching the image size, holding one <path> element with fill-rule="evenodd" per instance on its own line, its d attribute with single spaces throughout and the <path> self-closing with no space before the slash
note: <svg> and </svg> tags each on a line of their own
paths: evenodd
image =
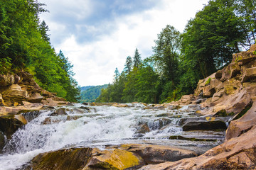
<svg viewBox="0 0 256 170">
<path fill-rule="evenodd" d="M 33 170 L 70 170 L 83 169 L 92 157 L 91 148 L 70 148 L 38 154 L 27 169 Z"/>
</svg>

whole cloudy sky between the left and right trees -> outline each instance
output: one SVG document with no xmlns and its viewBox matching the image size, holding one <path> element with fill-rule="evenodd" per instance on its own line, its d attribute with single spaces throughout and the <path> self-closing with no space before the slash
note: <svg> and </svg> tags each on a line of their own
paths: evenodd
<svg viewBox="0 0 256 170">
<path fill-rule="evenodd" d="M 73 64 L 80 86 L 109 84 L 138 48 L 153 55 L 154 40 L 166 25 L 181 33 L 208 0 L 38 0 L 50 43 Z"/>
</svg>

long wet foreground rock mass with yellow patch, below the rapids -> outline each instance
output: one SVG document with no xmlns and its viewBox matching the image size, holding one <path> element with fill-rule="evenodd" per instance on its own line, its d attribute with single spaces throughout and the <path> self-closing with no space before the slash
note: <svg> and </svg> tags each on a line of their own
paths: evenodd
<svg viewBox="0 0 256 170">
<path fill-rule="evenodd" d="M 97 148 L 69 148 L 38 154 L 24 169 L 139 169 L 146 164 L 176 161 L 197 154 L 161 145 L 127 144 Z"/>
</svg>

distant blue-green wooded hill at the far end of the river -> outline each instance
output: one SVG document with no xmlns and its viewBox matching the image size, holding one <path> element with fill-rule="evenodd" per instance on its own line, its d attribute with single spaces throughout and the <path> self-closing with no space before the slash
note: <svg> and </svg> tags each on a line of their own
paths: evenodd
<svg viewBox="0 0 256 170">
<path fill-rule="evenodd" d="M 100 96 L 101 89 L 106 89 L 108 84 L 100 86 L 82 86 L 80 102 L 95 102 L 96 98 Z"/>
</svg>

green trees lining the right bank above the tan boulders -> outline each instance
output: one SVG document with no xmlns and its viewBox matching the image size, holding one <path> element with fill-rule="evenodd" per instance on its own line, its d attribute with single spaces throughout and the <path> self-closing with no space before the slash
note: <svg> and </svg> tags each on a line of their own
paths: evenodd
<svg viewBox="0 0 256 170">
<path fill-rule="evenodd" d="M 166 26 L 153 47 L 154 55 L 140 60 L 127 57 L 124 70 L 97 102 L 163 103 L 192 94 L 199 79 L 232 60 L 232 54 L 255 43 L 255 0 L 211 0 L 183 33 Z"/>
</svg>

